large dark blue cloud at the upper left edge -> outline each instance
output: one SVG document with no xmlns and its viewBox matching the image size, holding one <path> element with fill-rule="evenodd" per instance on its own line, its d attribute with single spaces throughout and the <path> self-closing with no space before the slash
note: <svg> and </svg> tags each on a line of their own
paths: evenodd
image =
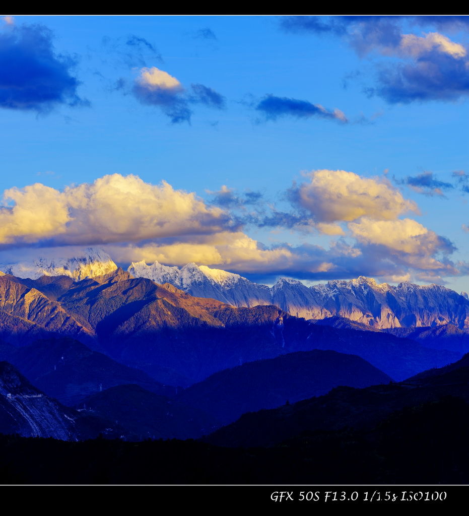
<svg viewBox="0 0 469 516">
<path fill-rule="evenodd" d="M 56 54 L 43 25 L 8 25 L 0 32 L 0 106 L 47 112 L 60 104 L 89 105 L 73 75 L 75 58 Z"/>
</svg>

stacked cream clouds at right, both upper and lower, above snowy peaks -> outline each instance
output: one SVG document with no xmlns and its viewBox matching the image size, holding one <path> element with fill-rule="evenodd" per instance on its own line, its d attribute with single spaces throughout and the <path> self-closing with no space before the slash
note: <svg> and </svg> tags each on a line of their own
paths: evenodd
<svg viewBox="0 0 469 516">
<path fill-rule="evenodd" d="M 322 234 L 338 237 L 328 254 L 327 262 L 333 266 L 322 277 L 411 275 L 417 279 L 417 275 L 430 274 L 441 282 L 444 275 L 460 273 L 448 259 L 456 250 L 449 240 L 413 219 L 400 218 L 407 212 L 418 214 L 418 207 L 386 179 L 363 178 L 344 170 L 317 170 L 304 176 L 309 181 L 289 190 L 290 201 L 299 215 L 303 213 L 303 222 Z M 295 229 L 299 228 L 298 224 Z M 354 243 L 346 245 L 343 237 Z M 294 249 L 292 252 L 297 254 Z M 325 253 L 315 252 L 326 260 Z M 295 266 L 298 263 L 301 260 Z M 318 276 L 315 272 L 309 278 Z"/>
</svg>

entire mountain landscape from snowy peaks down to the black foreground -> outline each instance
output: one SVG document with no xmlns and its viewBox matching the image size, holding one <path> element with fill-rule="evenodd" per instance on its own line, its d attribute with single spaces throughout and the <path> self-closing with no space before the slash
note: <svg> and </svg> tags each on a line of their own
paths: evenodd
<svg viewBox="0 0 469 516">
<path fill-rule="evenodd" d="M 229 453 L 230 467 L 248 482 L 318 481 L 311 461 L 330 481 L 338 470 L 346 481 L 356 457 L 363 457 L 364 481 L 374 472 L 399 482 L 410 466 L 399 450 L 413 453 L 406 436 L 428 433 L 444 446 L 438 414 L 465 424 L 469 301 L 447 288 L 364 277 L 313 287 L 281 279 L 270 288 L 195 264 L 140 262 L 123 270 L 93 249 L 8 267 L 0 275 L 2 433 L 119 443 L 207 436 L 184 449 L 192 458 L 211 456 L 232 482 L 228 452 L 218 446 L 265 448 Z M 434 425 L 438 436 L 427 431 Z M 464 446 L 465 432 L 454 431 Z M 107 449 L 102 441 L 93 441 L 96 450 Z M 346 462 L 337 454 L 328 462 L 336 448 Z M 248 474 L 252 457 L 257 473 Z M 421 478 L 461 481 L 459 457 L 451 451 L 444 475 Z M 160 480 L 184 481 L 184 465 L 194 467 L 187 457 L 174 468 L 168 460 Z M 0 475 L 13 463 L 0 459 Z M 214 478 L 201 474 L 187 478 Z"/>
</svg>

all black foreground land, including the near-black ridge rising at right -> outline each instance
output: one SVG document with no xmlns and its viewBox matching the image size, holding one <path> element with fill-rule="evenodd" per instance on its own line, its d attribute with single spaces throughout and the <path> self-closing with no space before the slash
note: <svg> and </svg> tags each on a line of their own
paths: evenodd
<svg viewBox="0 0 469 516">
<path fill-rule="evenodd" d="M 434 375 L 336 388 L 326 396 L 245 414 L 200 442 L 0 436 L 0 481 L 464 485 L 469 483 L 466 363 L 465 357 Z"/>
</svg>

